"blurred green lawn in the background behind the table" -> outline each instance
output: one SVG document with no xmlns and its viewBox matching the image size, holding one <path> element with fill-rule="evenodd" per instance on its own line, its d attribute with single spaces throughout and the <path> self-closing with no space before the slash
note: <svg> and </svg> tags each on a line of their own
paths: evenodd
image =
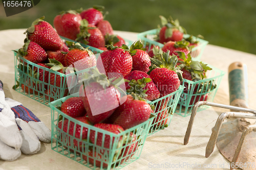
<svg viewBox="0 0 256 170">
<path fill-rule="evenodd" d="M 188 34 L 204 36 L 210 44 L 256 54 L 256 1 L 238 0 L 131 0 L 131 1 L 68 1 L 41 0 L 34 8 L 6 17 L 0 5 L 0 30 L 28 28 L 40 16 L 53 24 L 58 12 L 68 9 L 87 9 L 105 6 L 114 30 L 143 32 L 157 28 L 159 15 L 178 18 Z"/>
</svg>

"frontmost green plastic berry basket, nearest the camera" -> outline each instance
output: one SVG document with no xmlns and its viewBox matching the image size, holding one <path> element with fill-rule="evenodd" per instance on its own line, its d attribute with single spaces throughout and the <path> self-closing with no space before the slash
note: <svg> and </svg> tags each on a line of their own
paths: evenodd
<svg viewBox="0 0 256 170">
<path fill-rule="evenodd" d="M 120 134 L 115 134 L 79 122 L 77 119 L 61 112 L 58 109 L 61 103 L 71 97 L 69 95 L 49 103 L 51 107 L 52 150 L 91 169 L 121 169 L 139 159 L 154 116 L 142 124 L 127 129 Z M 68 121 L 67 130 L 63 130 L 61 122 L 64 120 Z M 75 131 L 70 132 L 69 128 L 74 127 L 76 129 L 78 126 L 80 126 L 80 129 L 86 128 L 88 133 L 83 134 L 82 131 L 79 131 L 79 134 L 75 137 Z M 95 132 L 94 143 L 90 139 L 91 132 Z M 136 139 L 131 140 L 130 138 L 129 140 L 129 138 L 126 138 L 131 133 L 136 135 Z M 102 135 L 102 144 L 95 144 L 99 135 Z M 110 143 L 109 146 L 104 144 L 105 139 Z M 131 150 L 132 152 L 126 152 L 125 154 L 124 150 Z"/>
</svg>

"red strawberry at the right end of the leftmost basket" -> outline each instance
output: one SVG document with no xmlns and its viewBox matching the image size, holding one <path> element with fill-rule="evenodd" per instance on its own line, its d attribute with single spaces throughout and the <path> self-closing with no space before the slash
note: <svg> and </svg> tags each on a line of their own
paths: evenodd
<svg viewBox="0 0 256 170">
<path fill-rule="evenodd" d="M 70 51 L 65 56 L 65 66 L 74 67 L 76 70 L 83 70 L 96 65 L 96 57 L 93 52 L 83 48 L 79 43 L 67 41 L 71 45 Z"/>
</svg>

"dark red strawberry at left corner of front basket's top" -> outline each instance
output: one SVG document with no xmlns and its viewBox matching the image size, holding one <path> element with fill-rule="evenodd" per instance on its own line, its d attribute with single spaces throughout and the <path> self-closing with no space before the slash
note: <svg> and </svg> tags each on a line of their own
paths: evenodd
<svg viewBox="0 0 256 170">
<path fill-rule="evenodd" d="M 71 117 L 80 117 L 86 114 L 82 97 L 72 97 L 67 99 L 61 104 L 60 110 Z"/>
</svg>

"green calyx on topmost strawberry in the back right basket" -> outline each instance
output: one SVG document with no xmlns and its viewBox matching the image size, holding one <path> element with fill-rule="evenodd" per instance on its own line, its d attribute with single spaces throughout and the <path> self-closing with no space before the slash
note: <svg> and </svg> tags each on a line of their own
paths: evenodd
<svg viewBox="0 0 256 170">
<path fill-rule="evenodd" d="M 172 16 L 169 16 L 169 18 L 165 18 L 164 16 L 159 16 L 161 19 L 162 26 L 166 26 L 167 29 L 165 30 L 165 39 L 173 36 L 173 29 L 179 30 L 181 33 L 186 34 L 186 29 L 182 26 L 180 26 L 180 22 L 178 19 L 173 20 Z"/>
</svg>

